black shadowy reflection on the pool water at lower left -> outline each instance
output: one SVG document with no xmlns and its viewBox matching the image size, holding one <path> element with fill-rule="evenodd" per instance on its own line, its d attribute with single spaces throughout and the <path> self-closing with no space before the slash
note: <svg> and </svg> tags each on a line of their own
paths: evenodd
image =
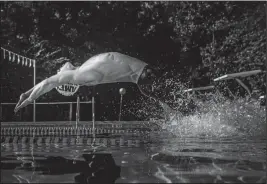
<svg viewBox="0 0 267 184">
<path fill-rule="evenodd" d="M 120 177 L 121 168 L 117 166 L 111 154 L 92 153 L 83 154 L 84 161 L 71 160 L 60 156 L 43 158 L 36 155 L 34 160 L 27 160 L 30 155 L 23 155 L 24 163 L 10 162 L 22 155 L 1 157 L 1 170 L 24 170 L 38 172 L 41 175 L 64 175 L 75 174 L 77 183 L 114 183 Z M 22 176 L 16 175 L 18 178 Z"/>
</svg>

